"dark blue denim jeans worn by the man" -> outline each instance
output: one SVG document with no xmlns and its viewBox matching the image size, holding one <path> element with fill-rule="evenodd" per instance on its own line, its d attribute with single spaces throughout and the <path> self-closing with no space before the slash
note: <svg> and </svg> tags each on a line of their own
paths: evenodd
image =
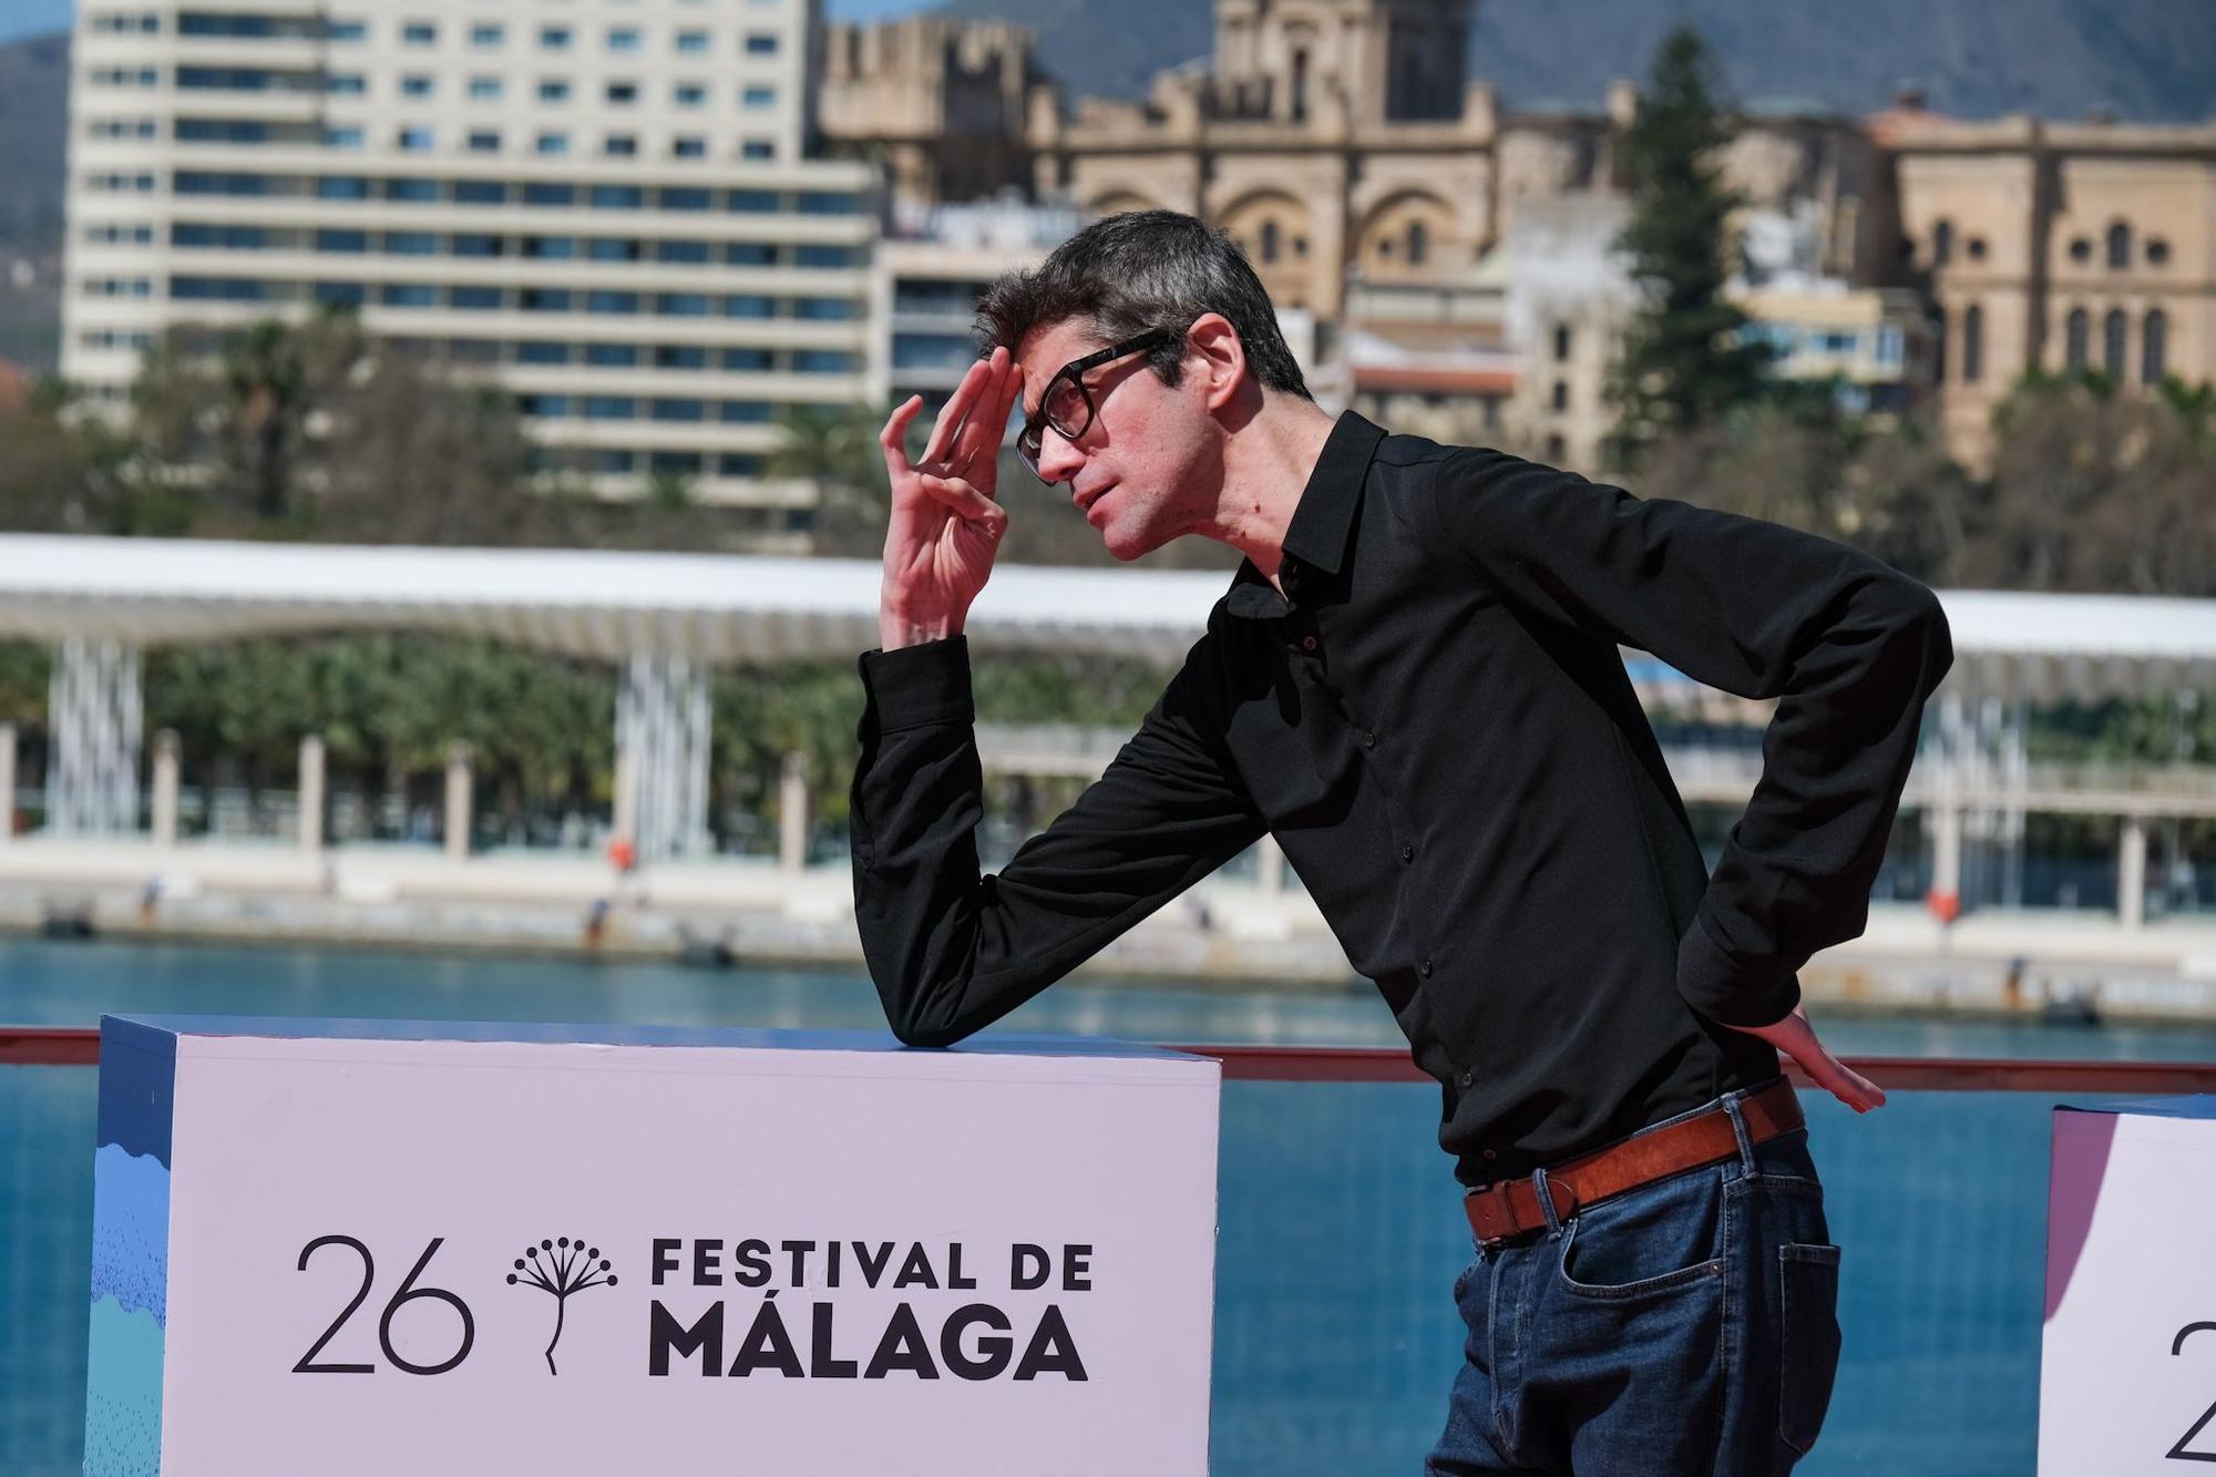
<svg viewBox="0 0 2216 1477">
<path fill-rule="evenodd" d="M 1753 1091 L 1720 1100 L 1737 1158 L 1562 1222 L 1542 1186 L 1549 1229 L 1478 1251 L 1425 1477 L 1771 1477 L 1808 1453 L 1839 1366 L 1839 1249 L 1808 1131 L 1748 1144 Z"/>
</svg>

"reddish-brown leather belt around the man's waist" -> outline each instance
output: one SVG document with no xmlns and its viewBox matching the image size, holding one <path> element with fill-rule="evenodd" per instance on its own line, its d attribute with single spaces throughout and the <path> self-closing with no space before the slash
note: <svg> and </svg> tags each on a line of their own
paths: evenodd
<svg viewBox="0 0 2216 1477">
<path fill-rule="evenodd" d="M 1791 1133 L 1806 1122 L 1793 1082 L 1786 1078 L 1777 1078 L 1753 1098 L 1742 1098 L 1740 1118 L 1746 1120 L 1746 1138 L 1755 1144 Z M 1737 1155 L 1740 1135 L 1731 1129 L 1731 1113 L 1713 1107 L 1697 1118 L 1627 1138 L 1609 1149 L 1547 1169 L 1553 1218 L 1567 1220 L 1611 1195 Z M 1547 1213 L 1540 1209 L 1538 1189 L 1529 1178 L 1474 1189 L 1463 1195 L 1463 1211 L 1469 1215 L 1469 1233 L 1487 1249 L 1547 1229 Z"/>
</svg>

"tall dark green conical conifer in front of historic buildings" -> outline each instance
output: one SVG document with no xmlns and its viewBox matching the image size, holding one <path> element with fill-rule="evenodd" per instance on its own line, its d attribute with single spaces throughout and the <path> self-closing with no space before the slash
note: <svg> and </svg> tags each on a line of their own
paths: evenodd
<svg viewBox="0 0 2216 1477">
<path fill-rule="evenodd" d="M 1740 204 L 1720 162 L 1728 137 L 1715 62 L 1680 24 L 1655 51 L 1620 146 L 1631 222 L 1618 248 L 1644 299 L 1609 386 L 1620 466 L 1764 395 L 1773 350 L 1746 335 L 1746 315 L 1724 297 Z"/>
</svg>

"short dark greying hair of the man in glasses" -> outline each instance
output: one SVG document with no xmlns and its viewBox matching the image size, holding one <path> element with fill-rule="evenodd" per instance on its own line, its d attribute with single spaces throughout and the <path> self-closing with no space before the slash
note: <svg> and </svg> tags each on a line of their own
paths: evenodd
<svg viewBox="0 0 2216 1477">
<path fill-rule="evenodd" d="M 977 302 L 977 339 L 986 353 L 1015 353 L 1033 328 L 1081 317 L 1101 344 L 1121 344 L 1152 328 L 1190 328 L 1203 313 L 1230 319 L 1263 388 L 1314 399 L 1245 253 L 1177 211 L 1110 215 L 1055 246 L 1035 271 L 1004 275 Z M 1183 357 L 1183 342 L 1172 339 L 1146 359 L 1163 384 L 1177 384 Z"/>
</svg>

